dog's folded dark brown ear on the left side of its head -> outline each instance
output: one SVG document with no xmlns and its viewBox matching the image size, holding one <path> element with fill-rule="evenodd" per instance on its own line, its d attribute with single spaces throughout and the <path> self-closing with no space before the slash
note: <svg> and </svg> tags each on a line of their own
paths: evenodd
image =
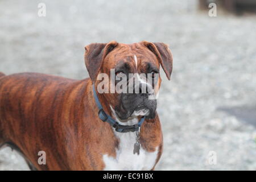
<svg viewBox="0 0 256 182">
<path fill-rule="evenodd" d="M 95 81 L 100 71 L 101 65 L 109 52 L 111 52 L 118 43 L 112 41 L 110 43 L 92 43 L 85 46 L 85 65 L 92 81 Z"/>
</svg>

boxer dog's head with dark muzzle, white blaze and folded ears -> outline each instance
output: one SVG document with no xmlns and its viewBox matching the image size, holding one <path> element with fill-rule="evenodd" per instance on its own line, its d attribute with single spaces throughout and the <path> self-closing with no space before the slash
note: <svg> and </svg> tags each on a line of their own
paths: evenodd
<svg viewBox="0 0 256 182">
<path fill-rule="evenodd" d="M 142 115 L 155 118 L 160 65 L 169 80 L 172 72 L 172 55 L 166 44 L 94 43 L 85 47 L 85 64 L 96 89 L 104 85 L 102 96 L 119 119 Z M 108 79 L 97 79 L 100 73 Z"/>
</svg>

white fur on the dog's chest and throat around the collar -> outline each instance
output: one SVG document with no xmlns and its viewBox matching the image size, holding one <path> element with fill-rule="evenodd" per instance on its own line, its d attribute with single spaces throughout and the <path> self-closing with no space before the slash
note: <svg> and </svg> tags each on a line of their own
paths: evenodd
<svg viewBox="0 0 256 182">
<path fill-rule="evenodd" d="M 137 118 L 121 124 L 134 125 L 135 123 L 138 123 Z M 114 131 L 114 134 L 119 138 L 119 147 L 116 149 L 116 158 L 103 155 L 105 170 L 150 170 L 154 167 L 158 156 L 158 147 L 154 152 L 147 152 L 141 147 L 139 155 L 133 154 L 134 143 L 136 142 L 135 132 L 119 133 Z"/>
</svg>

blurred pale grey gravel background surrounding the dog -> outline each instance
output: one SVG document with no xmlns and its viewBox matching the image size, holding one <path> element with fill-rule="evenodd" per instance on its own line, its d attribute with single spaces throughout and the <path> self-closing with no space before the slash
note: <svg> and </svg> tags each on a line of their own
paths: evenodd
<svg viewBox="0 0 256 182">
<path fill-rule="evenodd" d="M 0 0 L 0 71 L 82 79 L 87 44 L 167 43 L 174 69 L 171 81 L 161 73 L 155 169 L 256 170 L 256 2 L 214 1 L 217 14 L 209 2 Z M 0 170 L 28 167 L 4 148 Z"/>
</svg>

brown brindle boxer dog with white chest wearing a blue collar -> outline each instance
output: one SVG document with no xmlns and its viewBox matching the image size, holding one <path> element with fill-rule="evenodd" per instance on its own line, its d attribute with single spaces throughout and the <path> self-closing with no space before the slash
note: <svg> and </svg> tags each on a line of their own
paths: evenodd
<svg viewBox="0 0 256 182">
<path fill-rule="evenodd" d="M 156 100 L 141 90 L 100 93 L 97 78 L 110 69 L 155 74 L 161 65 L 170 80 L 170 49 L 146 41 L 93 43 L 85 47 L 85 65 L 90 78 L 84 80 L 0 73 L 0 146 L 19 151 L 30 169 L 154 169 L 163 151 Z M 39 151 L 46 163 L 39 163 Z"/>
</svg>

